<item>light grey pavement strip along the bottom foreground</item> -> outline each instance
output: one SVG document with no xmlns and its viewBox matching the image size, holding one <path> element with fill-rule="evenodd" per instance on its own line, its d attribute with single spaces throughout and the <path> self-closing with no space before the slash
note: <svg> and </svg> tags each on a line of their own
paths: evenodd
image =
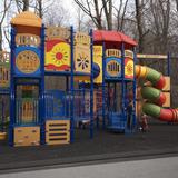
<svg viewBox="0 0 178 178">
<path fill-rule="evenodd" d="M 177 178 L 178 157 L 43 169 L 0 175 L 0 178 Z"/>
</svg>

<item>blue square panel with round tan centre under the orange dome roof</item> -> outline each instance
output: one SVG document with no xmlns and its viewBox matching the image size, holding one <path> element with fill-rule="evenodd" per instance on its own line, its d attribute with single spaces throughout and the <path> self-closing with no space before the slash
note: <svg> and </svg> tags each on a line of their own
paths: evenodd
<svg viewBox="0 0 178 178">
<path fill-rule="evenodd" d="M 40 51 L 33 47 L 18 47 L 16 49 L 16 75 L 39 75 Z"/>
</svg>

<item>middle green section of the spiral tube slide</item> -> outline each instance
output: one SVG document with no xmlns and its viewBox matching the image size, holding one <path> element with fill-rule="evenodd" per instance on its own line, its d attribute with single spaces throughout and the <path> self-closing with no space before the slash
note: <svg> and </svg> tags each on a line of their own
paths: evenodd
<svg viewBox="0 0 178 178">
<path fill-rule="evenodd" d="M 145 99 L 148 99 L 150 101 L 155 101 L 159 98 L 160 90 L 152 88 L 152 87 L 144 87 L 144 88 L 141 88 L 141 96 Z"/>
</svg>

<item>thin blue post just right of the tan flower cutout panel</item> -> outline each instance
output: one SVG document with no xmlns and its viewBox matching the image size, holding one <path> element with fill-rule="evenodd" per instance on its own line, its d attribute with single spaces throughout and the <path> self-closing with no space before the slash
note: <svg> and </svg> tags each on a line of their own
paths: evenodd
<svg viewBox="0 0 178 178">
<path fill-rule="evenodd" d="M 90 55 L 91 55 L 91 75 L 90 75 L 90 138 L 93 138 L 93 38 L 90 30 Z"/>
</svg>

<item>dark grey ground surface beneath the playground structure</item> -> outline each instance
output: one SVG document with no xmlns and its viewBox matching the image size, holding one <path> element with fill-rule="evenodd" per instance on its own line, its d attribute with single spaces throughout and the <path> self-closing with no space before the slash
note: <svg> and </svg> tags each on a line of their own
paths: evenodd
<svg viewBox="0 0 178 178">
<path fill-rule="evenodd" d="M 93 139 L 89 139 L 88 130 L 80 130 L 72 145 L 12 148 L 4 142 L 0 144 L 0 172 L 17 168 L 165 154 L 178 154 L 178 125 L 155 123 L 150 126 L 149 132 L 134 135 L 99 130 Z"/>
</svg>

